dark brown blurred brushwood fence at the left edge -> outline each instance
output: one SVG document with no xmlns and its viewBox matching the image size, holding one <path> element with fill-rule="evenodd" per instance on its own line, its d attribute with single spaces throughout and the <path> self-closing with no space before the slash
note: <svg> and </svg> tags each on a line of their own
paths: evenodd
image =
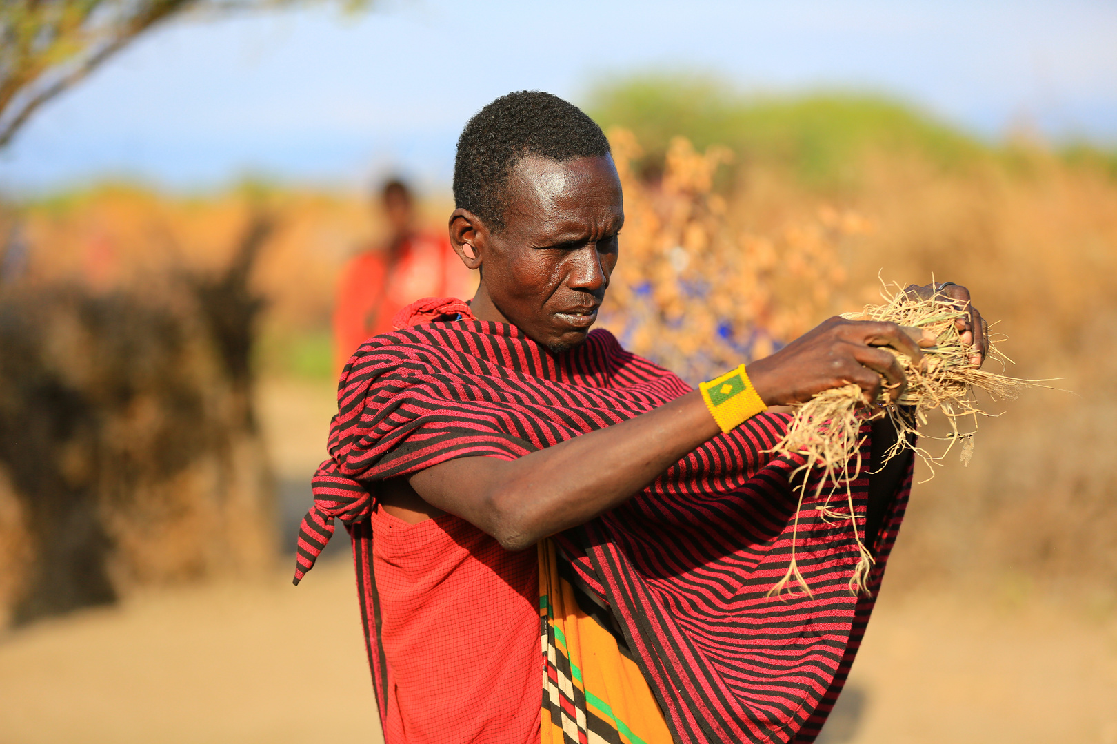
<svg viewBox="0 0 1117 744">
<path fill-rule="evenodd" d="M 266 233 L 251 226 L 213 276 L 0 291 L 0 620 L 270 564 L 247 366 Z"/>
</svg>

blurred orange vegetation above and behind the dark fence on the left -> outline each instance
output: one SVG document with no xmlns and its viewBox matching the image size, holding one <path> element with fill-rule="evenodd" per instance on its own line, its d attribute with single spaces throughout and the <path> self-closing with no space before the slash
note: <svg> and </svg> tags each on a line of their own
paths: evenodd
<svg viewBox="0 0 1117 744">
<path fill-rule="evenodd" d="M 251 189 L 169 199 L 103 186 L 28 212 L 29 270 L 37 280 L 76 279 L 97 290 L 142 288 L 176 270 L 217 271 L 256 213 L 278 225 L 254 271 L 271 316 L 299 328 L 327 322 L 337 268 L 375 228 L 359 199 Z"/>
</svg>

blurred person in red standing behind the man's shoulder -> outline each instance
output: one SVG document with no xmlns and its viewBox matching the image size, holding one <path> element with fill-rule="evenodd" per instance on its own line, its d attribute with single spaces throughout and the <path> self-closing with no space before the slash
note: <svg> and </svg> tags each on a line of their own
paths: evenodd
<svg viewBox="0 0 1117 744">
<path fill-rule="evenodd" d="M 469 297 L 472 272 L 461 264 L 447 234 L 416 228 L 411 190 L 392 178 L 380 191 L 391 236 L 350 259 L 342 269 L 334 308 L 334 373 L 341 374 L 366 338 L 395 330 L 392 318 L 422 297 Z"/>
</svg>

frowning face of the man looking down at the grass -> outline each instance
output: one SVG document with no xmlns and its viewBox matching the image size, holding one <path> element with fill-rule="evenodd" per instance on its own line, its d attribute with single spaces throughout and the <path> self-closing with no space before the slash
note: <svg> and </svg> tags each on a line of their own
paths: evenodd
<svg viewBox="0 0 1117 744">
<path fill-rule="evenodd" d="M 505 229 L 478 234 L 483 289 L 504 319 L 565 351 L 590 332 L 617 265 L 624 206 L 613 160 L 525 157 L 505 203 Z"/>
</svg>

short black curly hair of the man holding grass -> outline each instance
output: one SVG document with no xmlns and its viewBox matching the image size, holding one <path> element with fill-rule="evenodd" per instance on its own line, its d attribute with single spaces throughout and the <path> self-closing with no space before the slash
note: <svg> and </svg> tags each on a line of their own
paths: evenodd
<svg viewBox="0 0 1117 744">
<path fill-rule="evenodd" d="M 508 178 L 522 157 L 561 163 L 609 153 L 605 134 L 577 106 L 541 90 L 509 93 L 477 112 L 461 131 L 454 202 L 499 232 L 505 228 Z"/>
</svg>

